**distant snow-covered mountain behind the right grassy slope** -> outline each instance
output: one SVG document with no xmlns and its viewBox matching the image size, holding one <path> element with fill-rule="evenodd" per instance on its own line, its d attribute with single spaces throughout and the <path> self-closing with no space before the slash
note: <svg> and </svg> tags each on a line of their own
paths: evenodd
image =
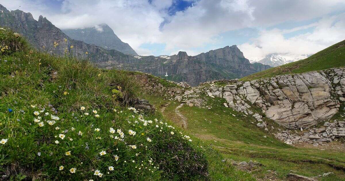
<svg viewBox="0 0 345 181">
<path fill-rule="evenodd" d="M 302 54 L 302 55 L 295 55 L 295 54 L 279 54 L 279 53 L 270 53 L 265 56 L 265 58 L 253 57 L 250 58 L 250 63 L 258 62 L 265 65 L 269 65 L 271 67 L 278 67 L 284 65 L 286 63 L 295 62 L 298 60 L 306 59 L 311 54 Z"/>
</svg>

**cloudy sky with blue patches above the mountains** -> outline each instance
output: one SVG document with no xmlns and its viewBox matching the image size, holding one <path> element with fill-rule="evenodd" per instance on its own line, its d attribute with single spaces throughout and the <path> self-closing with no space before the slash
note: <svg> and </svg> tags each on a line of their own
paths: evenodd
<svg viewBox="0 0 345 181">
<path fill-rule="evenodd" d="M 1 0 L 60 29 L 107 23 L 142 56 L 237 45 L 244 56 L 313 54 L 345 39 L 345 0 Z"/>
</svg>

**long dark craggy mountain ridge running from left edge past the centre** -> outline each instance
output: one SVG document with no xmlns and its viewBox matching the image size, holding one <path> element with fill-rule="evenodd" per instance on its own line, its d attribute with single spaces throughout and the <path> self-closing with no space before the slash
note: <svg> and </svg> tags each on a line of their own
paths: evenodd
<svg viewBox="0 0 345 181">
<path fill-rule="evenodd" d="M 31 13 L 21 10 L 8 11 L 1 5 L 0 10 L 2 10 L 2 13 L 0 13 L 0 26 L 12 28 L 14 31 L 27 37 L 36 49 L 57 55 L 64 55 L 66 52 L 69 52 L 78 58 L 88 59 L 101 68 L 141 71 L 152 73 L 159 77 L 164 76 L 167 72 L 168 80 L 187 82 L 191 86 L 196 86 L 200 82 L 209 80 L 242 78 L 270 68 L 270 66 L 262 63 L 251 64 L 236 46 L 211 50 L 197 56 L 188 56 L 186 52 L 158 57 L 129 55 L 118 50 L 108 49 L 111 44 L 104 42 L 102 44 L 101 41 L 94 41 L 92 44 L 89 44 L 75 40 L 55 27 L 43 16 L 40 16 L 38 21 L 36 21 Z M 102 28 L 105 28 L 109 33 L 104 33 L 100 36 L 119 40 L 115 38 L 117 36 L 114 32 L 107 27 L 103 26 Z M 93 33 L 97 36 L 97 32 L 93 30 Z M 80 39 L 82 37 L 77 36 L 77 38 Z M 86 39 L 93 41 L 88 36 Z M 54 46 L 54 42 L 58 43 L 58 46 Z M 106 46 L 107 48 L 100 46 Z"/>
</svg>

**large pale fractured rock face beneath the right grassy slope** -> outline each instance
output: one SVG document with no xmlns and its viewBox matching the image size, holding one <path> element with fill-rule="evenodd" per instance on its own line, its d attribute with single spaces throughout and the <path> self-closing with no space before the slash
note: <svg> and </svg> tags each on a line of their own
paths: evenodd
<svg viewBox="0 0 345 181">
<path fill-rule="evenodd" d="M 250 114 L 256 105 L 266 117 L 286 128 L 308 128 L 338 112 L 345 101 L 345 69 L 334 68 L 269 79 L 234 81 L 207 92 L 226 99 L 227 106 Z"/>
</svg>

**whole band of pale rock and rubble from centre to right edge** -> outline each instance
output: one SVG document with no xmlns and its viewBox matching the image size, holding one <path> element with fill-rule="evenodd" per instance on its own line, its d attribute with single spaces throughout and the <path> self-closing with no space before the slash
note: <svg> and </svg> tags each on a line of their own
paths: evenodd
<svg viewBox="0 0 345 181">
<path fill-rule="evenodd" d="M 149 94 L 205 109 L 211 109 L 207 100 L 224 98 L 223 106 L 254 117 L 253 124 L 274 131 L 274 136 L 285 143 L 306 142 L 314 146 L 345 137 L 344 76 L 345 68 L 332 68 L 247 82 L 237 79 L 208 81 L 191 88 L 185 82 L 162 81 L 150 74 L 136 74 L 139 82 L 143 82 L 143 90 Z M 341 104 L 343 107 L 339 111 Z M 338 112 L 341 119 L 330 122 L 329 118 Z M 267 118 L 286 130 L 269 126 Z M 310 128 L 316 124 L 318 128 Z M 289 129 L 298 129 L 300 133 Z"/>
</svg>

